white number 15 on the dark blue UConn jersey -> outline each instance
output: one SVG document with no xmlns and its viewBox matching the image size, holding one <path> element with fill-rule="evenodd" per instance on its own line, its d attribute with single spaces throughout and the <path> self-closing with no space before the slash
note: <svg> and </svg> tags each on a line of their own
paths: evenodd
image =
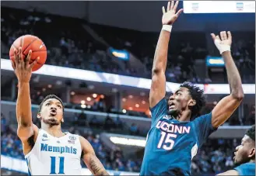
<svg viewBox="0 0 256 176">
<path fill-rule="evenodd" d="M 171 137 L 176 138 L 177 135 L 172 134 L 172 133 L 165 133 L 165 132 L 161 131 L 161 138 L 157 145 L 157 148 L 159 148 L 159 149 L 163 148 L 164 150 L 172 150 L 172 148 L 174 147 L 174 140 L 170 139 Z M 163 144 L 163 140 L 164 140 L 164 143 L 166 143 L 166 144 Z M 170 143 L 169 147 L 167 146 L 167 143 Z"/>
</svg>

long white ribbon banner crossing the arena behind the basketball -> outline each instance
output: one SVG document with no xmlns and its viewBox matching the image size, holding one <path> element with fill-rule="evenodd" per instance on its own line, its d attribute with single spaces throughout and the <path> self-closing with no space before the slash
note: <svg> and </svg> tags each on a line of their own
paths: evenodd
<svg viewBox="0 0 256 176">
<path fill-rule="evenodd" d="M 1 70 L 13 71 L 10 60 L 1 59 Z M 118 74 L 100 73 L 96 71 L 85 71 L 75 68 L 58 67 L 53 65 L 44 64 L 38 71 L 33 74 L 44 74 L 48 76 L 79 79 L 83 81 L 104 82 L 114 85 L 132 86 L 135 88 L 150 89 L 151 79 L 135 78 L 129 76 L 122 76 Z M 205 94 L 230 94 L 230 85 L 228 84 L 211 84 L 202 85 L 197 84 L 200 88 L 205 89 Z M 180 86 L 179 83 L 167 82 L 167 92 L 175 91 Z M 243 85 L 244 94 L 255 94 L 255 85 Z"/>
</svg>

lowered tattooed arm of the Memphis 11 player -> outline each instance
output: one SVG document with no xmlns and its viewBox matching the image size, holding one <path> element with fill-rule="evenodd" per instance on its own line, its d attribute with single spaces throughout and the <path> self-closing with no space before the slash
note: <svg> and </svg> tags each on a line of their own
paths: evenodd
<svg viewBox="0 0 256 176">
<path fill-rule="evenodd" d="M 101 164 L 100 160 L 96 157 L 91 144 L 82 136 L 79 136 L 79 140 L 82 146 L 82 160 L 89 168 L 89 171 L 91 171 L 93 175 L 109 175 L 103 167 L 103 164 Z"/>
</svg>

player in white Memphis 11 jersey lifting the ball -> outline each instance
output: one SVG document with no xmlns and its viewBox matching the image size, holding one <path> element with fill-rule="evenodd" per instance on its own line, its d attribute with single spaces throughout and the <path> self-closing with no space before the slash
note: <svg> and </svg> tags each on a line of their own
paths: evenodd
<svg viewBox="0 0 256 176">
<path fill-rule="evenodd" d="M 85 162 L 93 175 L 108 175 L 96 157 L 93 147 L 82 136 L 61 131 L 64 122 L 64 107 L 60 98 L 48 95 L 40 104 L 37 118 L 41 129 L 32 122 L 30 100 L 30 78 L 32 67 L 37 60 L 30 63 L 31 50 L 25 60 L 22 51 L 15 53 L 12 67 L 19 82 L 16 118 L 17 134 L 23 143 L 23 153 L 30 175 L 81 175 L 80 159 Z"/>
</svg>

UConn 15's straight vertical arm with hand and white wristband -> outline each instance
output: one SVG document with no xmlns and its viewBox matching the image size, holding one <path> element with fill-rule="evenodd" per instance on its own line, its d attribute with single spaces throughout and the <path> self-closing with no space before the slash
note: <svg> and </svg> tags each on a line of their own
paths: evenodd
<svg viewBox="0 0 256 176">
<path fill-rule="evenodd" d="M 166 94 L 166 77 L 165 71 L 167 68 L 167 53 L 170 40 L 171 27 L 174 24 L 177 17 L 181 14 L 183 9 L 180 9 L 177 13 L 178 1 L 168 2 L 167 12 L 163 7 L 163 29 L 161 30 L 160 37 L 156 45 L 156 52 L 153 61 L 152 68 L 152 83 L 149 93 L 149 106 L 153 108 Z"/>
</svg>

